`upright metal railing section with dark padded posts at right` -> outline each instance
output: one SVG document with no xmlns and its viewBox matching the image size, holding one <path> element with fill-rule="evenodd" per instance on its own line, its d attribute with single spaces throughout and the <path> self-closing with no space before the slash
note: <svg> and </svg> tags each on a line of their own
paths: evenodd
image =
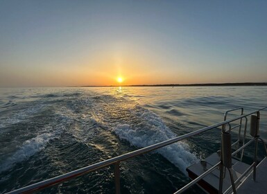
<svg viewBox="0 0 267 194">
<path fill-rule="evenodd" d="M 180 188 L 180 190 L 175 192 L 175 194 L 182 193 L 182 192 L 186 191 L 189 187 L 193 186 L 193 184 L 196 184 L 201 179 L 203 179 L 203 177 L 205 177 L 209 173 L 212 173 L 214 170 L 216 170 L 217 167 L 219 167 L 219 169 L 220 169 L 218 193 L 229 193 L 230 191 L 232 191 L 233 193 L 236 193 L 236 186 L 238 186 L 241 179 L 243 179 L 243 177 L 245 177 L 250 172 L 250 170 L 252 170 L 252 168 L 253 168 L 253 179 L 255 181 L 256 180 L 256 172 L 257 172 L 256 167 L 257 167 L 258 139 L 263 143 L 264 149 L 265 149 L 265 152 L 267 155 L 266 143 L 259 136 L 260 111 L 263 109 L 266 109 L 266 108 L 267 107 L 264 107 L 262 109 L 259 109 L 258 111 L 250 112 L 249 114 L 243 114 L 243 107 L 239 107 L 236 109 L 230 109 L 227 112 L 225 112 L 224 120 L 227 122 L 225 122 L 221 125 L 222 126 L 221 150 L 218 152 L 220 157 L 221 157 L 220 161 L 217 164 L 215 164 L 214 166 L 212 166 L 212 168 L 209 168 L 207 171 L 205 171 L 205 173 L 199 175 L 196 179 L 193 179 L 193 181 L 189 182 L 189 184 Z M 241 110 L 241 115 L 235 117 L 237 119 L 233 118 L 233 119 L 227 120 L 227 115 L 230 112 L 234 112 L 236 110 Z M 257 115 L 254 115 L 254 114 L 257 114 Z M 251 119 L 250 119 L 250 136 L 252 136 L 252 139 L 250 139 L 250 141 L 246 142 L 246 130 L 247 130 L 247 125 L 248 125 L 248 116 L 251 116 Z M 244 125 L 244 130 L 243 130 L 243 138 L 241 137 L 242 119 L 246 120 L 245 125 Z M 232 126 L 232 123 L 234 121 L 238 121 L 238 120 L 239 120 L 239 124 Z M 228 128 L 226 127 L 226 125 L 228 125 Z M 234 143 L 232 143 L 231 132 L 235 128 L 239 128 L 238 139 L 237 139 L 237 141 L 234 141 Z M 239 143 L 241 141 L 243 142 L 243 145 L 239 148 Z M 234 178 L 232 175 L 232 157 L 234 157 L 237 153 L 241 152 L 241 158 L 240 158 L 240 161 L 241 161 L 242 157 L 243 157 L 244 148 L 246 148 L 248 145 L 250 145 L 253 142 L 255 142 L 254 161 L 248 167 L 248 169 L 246 169 L 245 172 L 234 181 Z M 237 145 L 237 146 L 235 148 L 235 151 L 232 152 L 232 149 L 233 149 L 232 147 L 234 145 Z M 225 178 L 226 168 L 227 168 L 227 170 L 229 170 L 231 186 L 223 192 L 223 179 Z"/>
</svg>

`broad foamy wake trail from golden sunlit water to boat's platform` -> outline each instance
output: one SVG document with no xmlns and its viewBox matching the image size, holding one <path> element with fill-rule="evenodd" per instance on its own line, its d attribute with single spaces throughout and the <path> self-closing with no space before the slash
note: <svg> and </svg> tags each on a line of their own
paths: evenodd
<svg viewBox="0 0 267 194">
<path fill-rule="evenodd" d="M 96 103 L 96 109 L 101 110 L 98 111 L 96 121 L 111 128 L 119 139 L 126 140 L 138 148 L 177 136 L 165 125 L 160 116 L 139 106 L 133 100 L 102 96 Z M 184 174 L 186 174 L 185 169 L 198 160 L 196 155 L 190 152 L 189 144 L 184 141 L 160 148 L 156 152 L 177 166 Z"/>
</svg>

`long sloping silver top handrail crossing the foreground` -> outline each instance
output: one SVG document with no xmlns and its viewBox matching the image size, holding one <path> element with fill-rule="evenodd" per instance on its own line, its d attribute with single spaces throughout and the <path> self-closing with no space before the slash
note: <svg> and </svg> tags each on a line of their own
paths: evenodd
<svg viewBox="0 0 267 194">
<path fill-rule="evenodd" d="M 187 138 L 189 138 L 191 136 L 195 136 L 196 134 L 200 134 L 200 133 L 206 132 L 208 130 L 212 130 L 212 129 L 216 128 L 216 127 L 220 127 L 222 125 L 225 125 L 227 123 L 231 123 L 232 121 L 239 120 L 240 118 L 249 116 L 250 114 L 255 114 L 255 113 L 259 112 L 260 110 L 266 109 L 266 108 L 267 107 L 264 107 L 264 108 L 258 109 L 256 111 L 250 112 L 248 114 L 243 114 L 241 116 L 236 116 L 235 118 L 231 118 L 229 120 L 222 121 L 221 123 L 216 123 L 214 125 L 210 125 L 210 126 L 204 127 L 204 128 L 202 128 L 200 130 L 196 130 L 196 131 L 190 132 L 188 134 L 183 134 L 181 136 L 177 136 L 177 137 L 175 137 L 173 139 L 169 139 L 169 140 L 166 140 L 166 141 L 162 141 L 160 143 L 149 145 L 146 148 L 141 148 L 139 150 L 128 152 L 128 153 L 126 153 L 124 155 L 120 155 L 120 156 L 114 157 L 112 159 L 107 159 L 105 161 L 100 161 L 100 162 L 98 162 L 96 164 L 85 166 L 83 168 L 79 168 L 77 170 L 73 170 L 73 171 L 71 171 L 69 173 L 65 173 L 63 175 L 58 175 L 56 177 L 53 177 L 53 178 L 50 178 L 50 179 L 46 179 L 46 180 L 44 180 L 42 182 L 37 182 L 35 184 L 31 184 L 31 185 L 25 186 L 23 188 L 19 188 L 17 190 L 10 191 L 8 193 L 9 194 L 10 193 L 14 194 L 14 193 L 33 192 L 33 191 L 38 191 L 38 190 L 40 190 L 42 188 L 53 186 L 55 184 L 60 184 L 60 182 L 65 182 L 68 179 L 84 175 L 85 173 L 89 173 L 90 171 L 97 170 L 99 168 L 104 168 L 106 166 L 110 166 L 112 164 L 116 164 L 116 163 L 118 163 L 120 161 L 125 161 L 127 159 L 130 159 L 132 157 L 136 157 L 138 155 L 143 155 L 143 154 L 145 154 L 147 152 L 151 152 L 153 150 L 157 150 L 157 149 L 162 148 L 162 147 L 164 147 L 166 145 L 170 145 L 172 143 L 176 143 L 176 142 L 181 141 L 183 139 L 187 139 Z"/>
</svg>

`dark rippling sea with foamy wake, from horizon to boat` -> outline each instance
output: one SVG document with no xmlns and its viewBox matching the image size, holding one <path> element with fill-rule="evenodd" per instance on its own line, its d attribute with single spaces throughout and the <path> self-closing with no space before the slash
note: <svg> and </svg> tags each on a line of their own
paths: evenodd
<svg viewBox="0 0 267 194">
<path fill-rule="evenodd" d="M 267 87 L 0 88 L 0 193 L 218 123 L 227 109 L 265 107 L 266 96 Z M 260 130 L 267 140 L 266 111 Z M 190 181 L 187 166 L 220 149 L 220 132 L 122 162 L 121 193 L 174 193 Z M 40 193 L 114 193 L 114 168 Z"/>
</svg>

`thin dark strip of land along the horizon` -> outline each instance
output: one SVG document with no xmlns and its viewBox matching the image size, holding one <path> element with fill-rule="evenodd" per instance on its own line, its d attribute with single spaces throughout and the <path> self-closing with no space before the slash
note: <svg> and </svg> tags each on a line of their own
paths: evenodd
<svg viewBox="0 0 267 194">
<path fill-rule="evenodd" d="M 121 85 L 121 87 L 213 87 L 213 86 L 267 86 L 267 82 L 237 82 L 237 83 L 205 83 L 205 84 L 166 84 L 166 85 Z M 120 87 L 119 85 L 108 86 L 79 86 L 79 87 Z"/>
</svg>

